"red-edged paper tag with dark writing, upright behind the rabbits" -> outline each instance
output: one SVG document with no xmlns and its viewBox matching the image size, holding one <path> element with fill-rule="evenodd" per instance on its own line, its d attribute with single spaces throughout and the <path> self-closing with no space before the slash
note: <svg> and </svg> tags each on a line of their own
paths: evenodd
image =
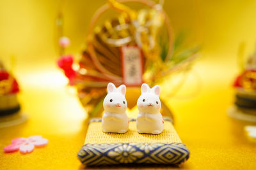
<svg viewBox="0 0 256 170">
<path fill-rule="evenodd" d="M 127 86 L 140 86 L 143 83 L 143 55 L 138 46 L 122 46 L 123 83 Z"/>
</svg>

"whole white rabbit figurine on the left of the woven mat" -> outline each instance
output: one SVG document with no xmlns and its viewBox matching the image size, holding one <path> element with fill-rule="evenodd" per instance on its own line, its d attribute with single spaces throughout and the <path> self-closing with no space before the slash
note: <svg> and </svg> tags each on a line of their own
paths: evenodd
<svg viewBox="0 0 256 170">
<path fill-rule="evenodd" d="M 120 85 L 116 89 L 113 83 L 108 83 L 108 94 L 103 101 L 104 114 L 102 117 L 102 131 L 125 133 L 128 131 L 129 118 L 126 115 L 127 101 L 126 87 Z"/>
</svg>

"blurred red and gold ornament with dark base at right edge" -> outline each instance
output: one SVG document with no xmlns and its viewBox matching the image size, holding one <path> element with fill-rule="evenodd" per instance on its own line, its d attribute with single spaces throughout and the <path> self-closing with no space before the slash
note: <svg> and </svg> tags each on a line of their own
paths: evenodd
<svg viewBox="0 0 256 170">
<path fill-rule="evenodd" d="M 230 116 L 256 122 L 256 50 L 248 58 L 246 66 L 234 81 L 236 88 L 235 106 L 230 108 Z"/>
</svg>

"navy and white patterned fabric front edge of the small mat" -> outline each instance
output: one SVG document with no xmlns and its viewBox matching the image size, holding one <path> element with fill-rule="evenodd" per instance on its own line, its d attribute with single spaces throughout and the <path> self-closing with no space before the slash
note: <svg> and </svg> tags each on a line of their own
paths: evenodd
<svg viewBox="0 0 256 170">
<path fill-rule="evenodd" d="M 86 144 L 78 153 L 86 166 L 106 164 L 180 164 L 189 158 L 183 143 Z"/>
</svg>

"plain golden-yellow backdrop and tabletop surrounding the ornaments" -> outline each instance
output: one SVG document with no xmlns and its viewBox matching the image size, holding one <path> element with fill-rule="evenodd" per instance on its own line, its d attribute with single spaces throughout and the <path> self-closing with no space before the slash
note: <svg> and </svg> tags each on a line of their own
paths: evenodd
<svg viewBox="0 0 256 170">
<path fill-rule="evenodd" d="M 76 57 L 83 48 L 90 18 L 104 3 L 65 1 L 64 34 L 72 41 L 68 52 Z M 15 57 L 13 72 L 22 89 L 19 99 L 29 116 L 25 124 L 0 129 L 0 149 L 21 136 L 40 134 L 49 139 L 45 148 L 27 155 L 0 151 L 1 169 L 83 168 L 76 154 L 86 135 L 86 115 L 55 64 L 59 6 L 60 1 L 50 0 L 0 1 L 0 57 L 9 68 L 10 56 Z M 234 101 L 231 84 L 239 73 L 237 48 L 244 41 L 249 55 L 255 47 L 256 1 L 166 0 L 164 9 L 174 32 L 187 30 L 188 44 L 203 45 L 188 81 L 168 102 L 175 115 L 175 129 L 191 151 L 181 167 L 255 169 L 255 141 L 248 139 L 243 129 L 247 123 L 229 118 L 226 112 Z M 195 75 L 200 80 L 195 81 Z M 182 97 L 191 94 L 200 81 L 202 89 L 196 96 Z"/>
</svg>

